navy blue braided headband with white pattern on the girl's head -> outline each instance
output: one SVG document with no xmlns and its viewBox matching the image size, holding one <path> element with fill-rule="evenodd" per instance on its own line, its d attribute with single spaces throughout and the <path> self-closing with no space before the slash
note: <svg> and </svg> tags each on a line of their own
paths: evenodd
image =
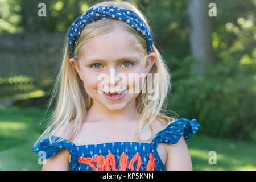
<svg viewBox="0 0 256 182">
<path fill-rule="evenodd" d="M 69 55 L 74 57 L 74 49 L 76 42 L 79 39 L 82 28 L 86 25 L 101 19 L 114 18 L 117 20 L 122 20 L 125 23 L 130 24 L 135 30 L 138 30 L 143 35 L 144 39 L 147 41 L 147 53 L 152 51 L 152 35 L 143 22 L 143 20 L 133 11 L 127 9 L 120 9 L 116 6 L 99 6 L 95 9 L 92 7 L 87 10 L 85 14 L 82 14 L 72 23 L 72 26 L 68 31 L 68 50 Z"/>
</svg>

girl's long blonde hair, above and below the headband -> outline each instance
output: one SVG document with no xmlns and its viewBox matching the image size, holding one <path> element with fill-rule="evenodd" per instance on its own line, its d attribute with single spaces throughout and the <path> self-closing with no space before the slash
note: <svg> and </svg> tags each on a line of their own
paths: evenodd
<svg viewBox="0 0 256 182">
<path fill-rule="evenodd" d="M 150 27 L 146 18 L 144 18 L 137 7 L 135 7 L 135 5 L 131 5 L 129 2 L 106 1 L 98 3 L 93 7 L 98 6 L 117 6 L 122 9 L 134 11 L 142 18 L 148 28 Z M 113 26 L 113 24 L 115 26 Z M 113 27 L 122 28 L 123 31 L 132 36 L 135 40 L 135 46 L 137 46 L 137 48 L 143 51 L 146 55 L 147 43 L 140 32 L 134 30 L 134 28 L 132 28 L 129 24 L 120 20 L 104 19 L 90 23 L 83 28 L 79 40 L 76 43 L 74 59 L 77 60 L 79 58 L 82 46 L 86 42 L 96 38 L 97 36 L 112 32 Z M 155 82 L 152 81 L 151 88 L 154 88 L 155 92 L 159 93 L 159 97 L 157 97 L 155 100 L 149 100 L 149 93 L 141 92 L 136 98 L 137 111 L 139 114 L 141 114 L 141 117 L 138 118 L 136 131 L 136 138 L 139 141 L 142 141 L 139 136 L 144 130 L 146 130 L 148 126 L 150 127 L 152 133 L 150 139 L 152 139 L 156 133 L 165 129 L 168 124 L 175 121 L 174 118 L 167 115 L 170 113 L 170 111 L 165 110 L 167 107 L 167 98 L 171 91 L 171 73 L 169 72 L 167 65 L 164 63 L 162 55 L 160 55 L 154 43 L 152 52 L 154 52 L 156 55 L 155 64 L 152 66 L 150 71 L 150 73 L 152 73 L 152 80 L 154 80 L 154 73 L 158 73 L 160 79 L 159 82 L 156 82 L 157 85 L 155 85 Z M 44 130 L 43 134 L 38 138 L 35 145 L 39 142 L 39 140 L 44 138 L 50 138 L 50 141 L 52 142 L 51 137 L 56 133 L 56 131 L 64 134 L 60 140 L 67 139 L 68 141 L 71 141 L 73 138 L 75 138 L 77 133 L 79 133 L 86 110 L 88 110 L 93 104 L 93 100 L 86 93 L 84 84 L 80 80 L 75 68 L 73 68 L 69 63 L 70 58 L 71 57 L 69 56 L 68 52 L 68 40 L 66 36 L 65 46 L 63 49 L 63 61 L 57 75 L 55 85 L 51 90 L 52 94 L 48 102 L 47 111 L 49 107 L 53 105 L 53 102 L 56 101 L 56 105 L 54 105 L 53 112 L 48 118 L 49 122 L 46 130 Z M 143 89 L 146 89 L 145 85 L 143 86 L 142 90 Z M 86 110 L 84 108 L 86 108 Z M 154 123 L 155 120 L 162 123 L 162 128 L 154 133 L 152 123 Z M 143 129 L 143 124 L 146 121 L 148 121 L 148 123 Z"/>
</svg>

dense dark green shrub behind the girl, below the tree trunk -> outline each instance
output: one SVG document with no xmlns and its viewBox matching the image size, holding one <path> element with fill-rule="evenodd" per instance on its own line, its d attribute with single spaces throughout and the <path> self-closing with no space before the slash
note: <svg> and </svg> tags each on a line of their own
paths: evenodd
<svg viewBox="0 0 256 182">
<path fill-rule="evenodd" d="M 197 119 L 200 133 L 256 142 L 253 68 L 223 62 L 207 67 L 204 76 L 183 78 L 182 73 L 174 73 L 168 109 Z"/>
</svg>

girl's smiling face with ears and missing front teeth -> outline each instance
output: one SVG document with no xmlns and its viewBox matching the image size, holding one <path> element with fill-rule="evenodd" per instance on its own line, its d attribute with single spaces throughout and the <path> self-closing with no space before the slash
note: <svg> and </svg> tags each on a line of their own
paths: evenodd
<svg viewBox="0 0 256 182">
<path fill-rule="evenodd" d="M 130 36 L 115 31 L 85 43 L 79 60 L 71 58 L 69 62 L 79 73 L 93 103 L 108 110 L 122 110 L 130 104 L 135 106 L 142 89 L 139 83 L 155 63 L 155 53 L 144 55 Z M 125 92 L 116 98 L 105 94 L 122 91 Z"/>
</svg>

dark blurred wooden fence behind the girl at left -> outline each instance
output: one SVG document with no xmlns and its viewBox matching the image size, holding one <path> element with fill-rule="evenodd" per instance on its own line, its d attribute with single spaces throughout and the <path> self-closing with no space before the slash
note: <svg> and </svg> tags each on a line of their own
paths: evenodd
<svg viewBox="0 0 256 182">
<path fill-rule="evenodd" d="M 64 35 L 0 35 L 0 98 L 50 85 L 59 71 Z"/>
</svg>

